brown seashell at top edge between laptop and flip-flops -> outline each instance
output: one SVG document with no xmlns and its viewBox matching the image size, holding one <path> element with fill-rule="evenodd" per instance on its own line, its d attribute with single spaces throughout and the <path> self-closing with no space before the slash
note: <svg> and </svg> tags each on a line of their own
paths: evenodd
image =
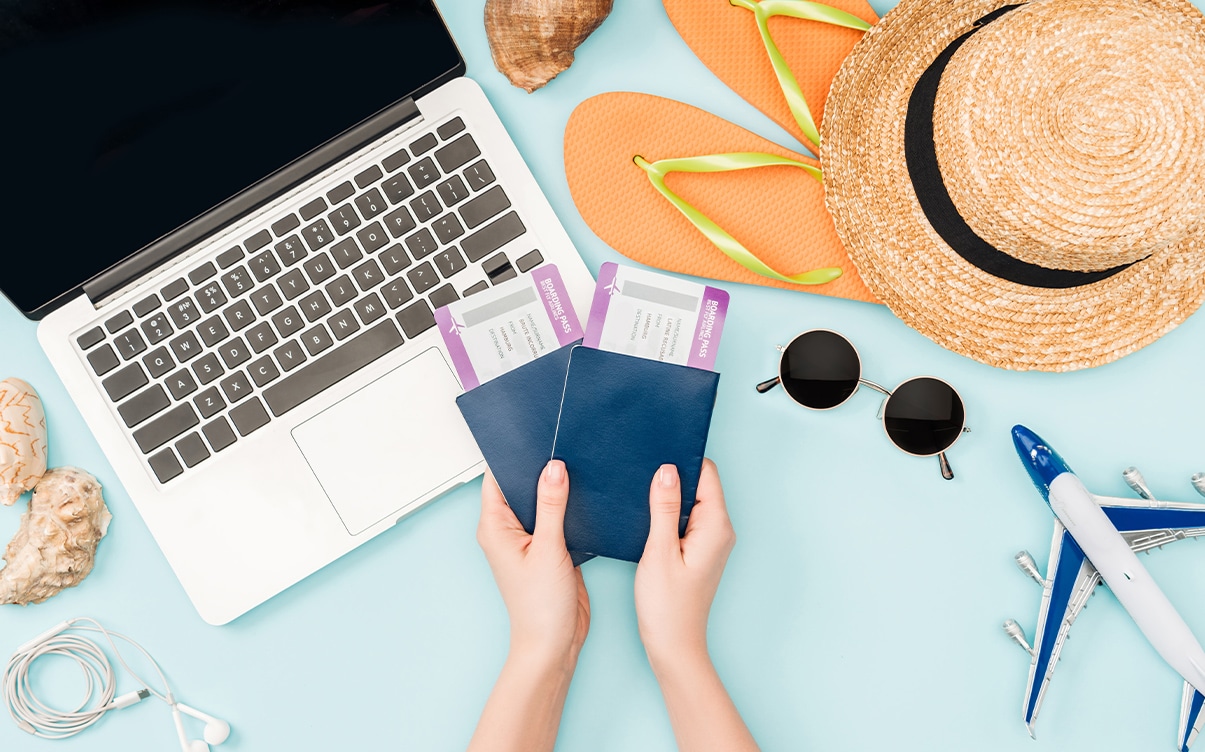
<svg viewBox="0 0 1205 752">
<path fill-rule="evenodd" d="M 528 94 L 574 64 L 574 51 L 611 13 L 612 0 L 486 0 L 494 65 Z"/>
</svg>

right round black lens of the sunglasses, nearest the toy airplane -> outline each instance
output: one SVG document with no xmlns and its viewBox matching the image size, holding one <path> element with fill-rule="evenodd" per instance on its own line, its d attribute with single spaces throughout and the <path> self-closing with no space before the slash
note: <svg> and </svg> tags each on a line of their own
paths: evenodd
<svg viewBox="0 0 1205 752">
<path fill-rule="evenodd" d="M 929 457 L 950 448 L 963 433 L 963 400 L 936 378 L 912 378 L 887 399 L 887 436 L 909 454 Z"/>
</svg>

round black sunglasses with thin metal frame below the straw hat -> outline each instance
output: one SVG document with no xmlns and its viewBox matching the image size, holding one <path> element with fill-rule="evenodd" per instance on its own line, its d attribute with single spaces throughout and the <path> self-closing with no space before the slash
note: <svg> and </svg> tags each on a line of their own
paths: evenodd
<svg viewBox="0 0 1205 752">
<path fill-rule="evenodd" d="M 850 340 L 828 329 L 812 329 L 778 347 L 778 375 L 757 386 L 765 394 L 782 384 L 787 396 L 809 410 L 831 410 L 844 404 L 859 386 L 887 396 L 878 419 L 892 443 L 915 457 L 937 457 L 941 476 L 953 480 L 946 459 L 964 431 L 963 399 L 953 387 L 930 376 L 909 378 L 892 390 L 862 377 L 862 359 Z"/>
</svg>

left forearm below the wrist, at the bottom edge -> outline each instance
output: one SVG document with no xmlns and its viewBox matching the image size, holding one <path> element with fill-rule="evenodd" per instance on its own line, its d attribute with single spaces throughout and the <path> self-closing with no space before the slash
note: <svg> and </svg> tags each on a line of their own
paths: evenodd
<svg viewBox="0 0 1205 752">
<path fill-rule="evenodd" d="M 576 657 L 533 657 L 512 647 L 469 752 L 551 751 L 576 663 Z"/>
</svg>

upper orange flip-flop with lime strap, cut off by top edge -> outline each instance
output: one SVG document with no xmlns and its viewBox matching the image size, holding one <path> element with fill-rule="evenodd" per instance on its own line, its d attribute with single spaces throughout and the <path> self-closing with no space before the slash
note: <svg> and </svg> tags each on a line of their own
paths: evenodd
<svg viewBox="0 0 1205 752">
<path fill-rule="evenodd" d="M 865 0 L 664 5 L 682 40 L 711 72 L 813 153 L 829 84 L 863 31 L 878 20 Z"/>
</svg>

